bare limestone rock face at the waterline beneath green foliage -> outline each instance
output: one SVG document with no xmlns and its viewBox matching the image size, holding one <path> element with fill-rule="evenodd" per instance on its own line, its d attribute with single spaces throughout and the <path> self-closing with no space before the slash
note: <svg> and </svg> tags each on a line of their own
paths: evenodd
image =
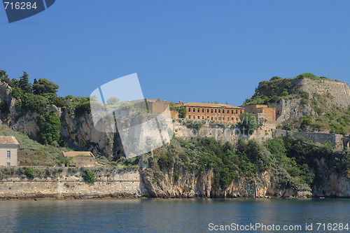
<svg viewBox="0 0 350 233">
<path fill-rule="evenodd" d="M 268 172 L 259 174 L 256 181 L 249 178 L 239 178 L 225 190 L 214 187 L 214 172 L 212 170 L 193 174 L 179 172 L 179 179 L 174 181 L 172 172 L 159 174 L 151 168 L 140 169 L 144 187 L 150 197 L 311 197 L 307 190 L 276 190 L 272 188 Z"/>
</svg>

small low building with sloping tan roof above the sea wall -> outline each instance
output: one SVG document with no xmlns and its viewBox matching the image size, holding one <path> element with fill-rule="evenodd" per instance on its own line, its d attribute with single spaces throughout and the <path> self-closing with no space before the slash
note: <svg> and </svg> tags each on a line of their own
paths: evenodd
<svg viewBox="0 0 350 233">
<path fill-rule="evenodd" d="M 69 166 L 93 167 L 97 164 L 94 155 L 90 151 L 62 151 L 58 160 L 66 158 Z"/>
</svg>

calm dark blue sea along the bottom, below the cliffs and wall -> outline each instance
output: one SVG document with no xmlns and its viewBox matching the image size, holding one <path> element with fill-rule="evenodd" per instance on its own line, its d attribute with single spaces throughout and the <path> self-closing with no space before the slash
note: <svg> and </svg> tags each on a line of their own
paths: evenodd
<svg viewBox="0 0 350 233">
<path fill-rule="evenodd" d="M 339 231 L 339 223 L 346 227 L 349 222 L 350 199 L 90 199 L 0 202 L 0 232 L 224 232 L 220 231 L 220 227 L 225 225 L 230 227 L 225 232 L 350 232 L 350 229 Z M 265 227 L 274 225 L 275 230 L 246 228 L 247 230 L 241 231 L 233 228 L 235 224 L 245 226 L 255 223 Z M 309 225 L 309 230 L 305 230 L 305 223 Z M 318 228 L 316 223 L 325 225 L 319 225 Z M 328 223 L 333 225 L 330 227 Z M 301 225 L 302 230 L 276 231 L 276 225 Z"/>
</svg>

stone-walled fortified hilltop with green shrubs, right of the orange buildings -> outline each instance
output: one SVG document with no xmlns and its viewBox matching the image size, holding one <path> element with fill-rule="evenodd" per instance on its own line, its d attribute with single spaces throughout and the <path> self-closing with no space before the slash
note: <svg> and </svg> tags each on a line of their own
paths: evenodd
<svg viewBox="0 0 350 233">
<path fill-rule="evenodd" d="M 262 81 L 244 105 L 276 108 L 283 129 L 346 134 L 350 131 L 349 85 L 304 73 L 295 78 Z"/>
</svg>

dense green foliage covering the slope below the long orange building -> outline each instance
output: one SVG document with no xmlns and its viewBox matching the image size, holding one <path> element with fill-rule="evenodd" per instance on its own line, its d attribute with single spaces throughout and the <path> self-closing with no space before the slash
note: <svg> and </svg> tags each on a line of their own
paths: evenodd
<svg viewBox="0 0 350 233">
<path fill-rule="evenodd" d="M 288 136 L 269 139 L 264 145 L 243 139 L 232 145 L 204 137 L 189 141 L 172 139 L 169 146 L 155 150 L 148 162 L 159 172 L 173 174 L 174 181 L 183 171 L 193 173 L 212 169 L 214 188 L 228 188 L 235 178 L 258 179 L 259 173 L 269 171 L 276 188 L 310 190 L 315 175 L 318 176 L 316 160 L 331 155 L 330 145 L 314 146 L 301 138 Z M 342 165 L 338 167 L 347 166 L 345 162 L 339 164 Z"/>
</svg>

